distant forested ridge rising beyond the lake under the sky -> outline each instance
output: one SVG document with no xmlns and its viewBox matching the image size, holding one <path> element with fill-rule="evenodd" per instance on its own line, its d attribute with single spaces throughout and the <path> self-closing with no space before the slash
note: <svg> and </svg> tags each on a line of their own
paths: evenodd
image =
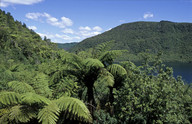
<svg viewBox="0 0 192 124">
<path fill-rule="evenodd" d="M 162 52 L 164 62 L 192 62 L 192 23 L 134 22 L 117 26 L 100 35 L 87 38 L 69 51 L 78 52 L 113 40 L 112 48 L 126 49 L 119 60 L 139 62 L 142 56 Z"/>
</svg>

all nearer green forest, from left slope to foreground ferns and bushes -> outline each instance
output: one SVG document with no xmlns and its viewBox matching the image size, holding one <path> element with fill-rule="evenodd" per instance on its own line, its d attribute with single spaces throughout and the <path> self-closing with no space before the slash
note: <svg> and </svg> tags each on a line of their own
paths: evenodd
<svg viewBox="0 0 192 124">
<path fill-rule="evenodd" d="M 112 46 L 68 53 L 0 10 L 0 124 L 192 123 L 192 87 L 160 53 L 115 63 Z"/>
</svg>

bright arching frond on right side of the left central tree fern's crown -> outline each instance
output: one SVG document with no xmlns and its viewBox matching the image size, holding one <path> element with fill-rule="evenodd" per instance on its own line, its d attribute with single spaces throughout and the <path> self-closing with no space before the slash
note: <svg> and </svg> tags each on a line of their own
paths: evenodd
<svg viewBox="0 0 192 124">
<path fill-rule="evenodd" d="M 92 59 L 92 58 L 87 58 L 83 61 L 83 64 L 85 65 L 85 67 L 88 68 L 100 68 L 100 67 L 104 67 L 103 63 L 101 63 L 101 61 L 99 61 L 98 59 Z"/>
</svg>

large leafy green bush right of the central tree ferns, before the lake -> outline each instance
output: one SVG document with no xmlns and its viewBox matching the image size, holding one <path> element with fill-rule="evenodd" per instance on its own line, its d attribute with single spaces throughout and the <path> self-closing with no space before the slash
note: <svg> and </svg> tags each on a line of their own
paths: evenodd
<svg viewBox="0 0 192 124">
<path fill-rule="evenodd" d="M 124 63 L 129 75 L 115 93 L 118 123 L 191 123 L 191 89 L 173 77 L 171 68 L 157 63 Z"/>
</svg>

